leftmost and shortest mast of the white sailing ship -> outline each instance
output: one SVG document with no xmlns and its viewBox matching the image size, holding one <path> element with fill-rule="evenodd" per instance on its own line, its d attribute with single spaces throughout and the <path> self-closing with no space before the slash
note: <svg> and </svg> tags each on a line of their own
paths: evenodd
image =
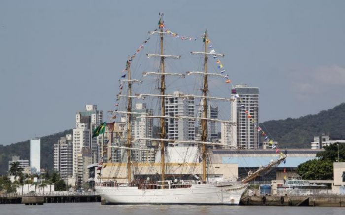
<svg viewBox="0 0 345 215">
<path fill-rule="evenodd" d="M 128 71 L 128 80 L 131 80 L 131 63 L 127 60 L 127 71 Z M 131 146 L 132 146 L 132 83 L 131 81 L 128 82 L 128 104 L 127 104 L 127 112 L 128 112 L 128 123 L 127 123 L 127 179 L 128 182 L 131 182 Z"/>
</svg>

